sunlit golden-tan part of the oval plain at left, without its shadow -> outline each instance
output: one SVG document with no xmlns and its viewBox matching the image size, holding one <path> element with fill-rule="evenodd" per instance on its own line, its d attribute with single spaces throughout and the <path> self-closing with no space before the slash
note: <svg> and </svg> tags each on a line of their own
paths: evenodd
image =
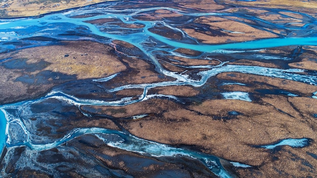
<svg viewBox="0 0 317 178">
<path fill-rule="evenodd" d="M 65 75 L 75 75 L 78 80 L 103 78 L 126 69 L 115 56 L 111 47 L 93 42 L 64 42 L 64 45 L 27 48 L 17 53 L 8 53 L 2 58 L 27 58 L 32 65 L 40 61 L 48 62 L 42 70 L 50 70 Z M 36 75 L 39 70 L 29 73 Z"/>
</svg>

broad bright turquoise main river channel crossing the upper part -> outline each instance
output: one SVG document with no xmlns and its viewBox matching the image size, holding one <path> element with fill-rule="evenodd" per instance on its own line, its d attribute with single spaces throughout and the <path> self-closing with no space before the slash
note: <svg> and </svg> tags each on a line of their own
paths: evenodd
<svg viewBox="0 0 317 178">
<path fill-rule="evenodd" d="M 109 15 L 100 15 L 100 16 L 94 16 L 94 17 L 75 18 L 75 19 L 69 18 L 64 14 L 52 14 L 48 16 L 43 16 L 42 18 L 39 18 L 39 19 L 25 18 L 25 19 L 16 19 L 16 20 L 10 20 L 10 21 L 4 20 L 4 22 L 0 20 L 0 24 L 1 24 L 0 32 L 3 33 L 1 34 L 3 36 L 1 39 L 3 42 L 8 42 L 8 41 L 18 41 L 21 38 L 44 36 L 44 37 L 57 38 L 61 40 L 76 40 L 75 37 L 71 38 L 70 35 L 66 36 L 67 38 L 63 38 L 61 37 L 61 35 L 65 33 L 64 31 L 65 29 L 76 30 L 76 27 L 84 26 L 85 28 L 87 28 L 88 33 L 96 34 L 101 37 L 107 37 L 114 40 L 126 41 L 128 43 L 137 45 L 138 47 L 140 46 L 142 42 L 146 41 L 146 39 L 148 39 L 149 37 L 152 37 L 172 47 L 186 48 L 186 49 L 191 49 L 191 50 L 196 50 L 201 52 L 217 52 L 218 50 L 232 50 L 232 49 L 251 50 L 251 49 L 264 49 L 264 48 L 272 48 L 272 47 L 290 46 L 290 45 L 316 45 L 317 44 L 317 37 L 274 38 L 274 39 L 264 39 L 264 40 L 255 40 L 255 41 L 247 41 L 247 42 L 240 42 L 240 43 L 220 44 L 220 45 L 188 44 L 188 43 L 171 40 L 159 34 L 150 32 L 148 29 L 155 25 L 155 23 L 151 21 L 140 21 L 138 19 L 133 19 L 134 20 L 133 23 L 140 23 L 145 25 L 145 27 L 142 28 L 141 32 L 135 32 L 135 33 L 124 34 L 124 35 L 105 33 L 100 31 L 100 29 L 97 26 L 85 22 L 88 20 L 94 20 L 94 19 L 100 19 L 100 18 L 112 18 L 113 16 L 116 16 L 116 18 L 128 17 L 133 19 L 131 15 L 120 15 L 120 14 L 109 14 Z M 125 21 L 125 23 L 129 24 L 132 22 Z M 16 25 L 19 25 L 18 29 L 15 29 L 17 28 Z M 61 29 L 60 27 L 65 27 L 65 29 Z M 38 31 L 41 31 L 41 32 L 38 32 Z M 7 46 L 7 48 L 9 49 L 11 47 L 11 45 L 5 45 L 5 46 Z M 7 50 L 7 48 L 2 47 L 2 51 Z"/>
</svg>

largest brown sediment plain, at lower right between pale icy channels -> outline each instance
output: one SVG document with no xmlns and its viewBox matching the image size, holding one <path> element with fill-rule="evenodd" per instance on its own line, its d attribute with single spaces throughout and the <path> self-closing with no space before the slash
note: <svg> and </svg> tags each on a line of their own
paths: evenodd
<svg viewBox="0 0 317 178">
<path fill-rule="evenodd" d="M 299 157 L 313 166 L 314 159 L 307 157 L 304 150 L 315 152 L 315 144 L 303 149 L 294 149 L 287 146 L 282 151 L 271 154 L 265 149 L 254 148 L 252 145 L 270 144 L 284 138 L 315 138 L 317 123 L 312 117 L 309 108 L 315 108 L 317 101 L 300 97 L 283 97 L 267 95 L 262 104 L 239 100 L 207 100 L 201 104 L 190 105 L 184 108 L 180 104 L 161 99 L 151 99 L 124 107 L 98 107 L 102 113 L 115 117 L 128 117 L 137 114 L 149 114 L 140 120 L 127 121 L 123 125 L 132 134 L 160 143 L 172 145 L 195 145 L 202 148 L 201 151 L 216 156 L 238 161 L 245 164 L 259 166 L 259 172 L 266 172 L 266 177 L 279 176 L 271 170 L 274 168 L 283 170 L 295 176 L 313 175 L 309 171 L 312 168 L 292 161 Z M 301 112 L 293 108 L 292 104 L 310 103 L 309 106 L 302 104 Z M 145 106 L 146 108 L 142 107 Z M 120 113 L 113 112 L 121 110 Z M 85 110 L 85 109 L 84 109 Z M 293 117 L 280 112 L 286 112 Z M 125 111 L 125 112 L 123 112 Z M 234 119 L 217 120 L 214 117 L 225 117 L 229 111 L 243 113 Z M 197 114 L 199 112 L 200 114 Z M 302 117 L 304 115 L 304 117 Z M 305 118 L 305 119 L 304 119 Z M 171 136 L 173 135 L 173 136 Z M 295 155 L 287 156 L 287 151 Z M 271 163 L 273 157 L 279 157 Z M 283 162 L 283 163 L 282 163 Z M 287 167 L 293 167 L 288 169 Z M 298 172 L 301 168 L 308 169 L 306 173 Z M 248 171 L 248 170 L 241 170 Z M 249 172 L 250 173 L 250 172 Z M 250 174 L 246 174 L 250 175 Z M 284 174 L 285 175 L 285 174 Z M 241 174 L 244 177 L 244 174 Z M 261 176 L 255 176 L 261 177 Z"/>
</svg>

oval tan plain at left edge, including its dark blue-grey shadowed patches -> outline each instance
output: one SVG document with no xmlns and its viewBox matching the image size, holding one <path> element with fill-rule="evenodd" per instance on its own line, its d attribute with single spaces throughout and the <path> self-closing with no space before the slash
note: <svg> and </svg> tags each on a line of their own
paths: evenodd
<svg viewBox="0 0 317 178">
<path fill-rule="evenodd" d="M 1 103 L 30 99 L 71 80 L 96 79 L 126 69 L 113 48 L 94 42 L 61 42 L 3 54 Z"/>
</svg>

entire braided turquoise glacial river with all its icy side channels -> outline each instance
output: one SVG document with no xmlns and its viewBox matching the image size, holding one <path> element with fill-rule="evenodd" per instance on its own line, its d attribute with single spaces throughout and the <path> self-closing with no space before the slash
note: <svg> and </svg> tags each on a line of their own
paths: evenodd
<svg viewBox="0 0 317 178">
<path fill-rule="evenodd" d="M 151 8 L 131 8 L 131 9 L 120 9 L 114 8 L 116 3 L 105 3 L 94 6 L 88 6 L 84 8 L 78 8 L 73 10 L 67 10 L 59 13 L 51 13 L 47 15 L 42 15 L 40 17 L 27 17 L 27 18 L 17 18 L 17 19 L 0 19 L 0 52 L 12 52 L 20 49 L 44 46 L 44 45 L 54 45 L 55 40 L 63 41 L 96 41 L 104 44 L 111 44 L 113 40 L 120 40 L 130 43 L 137 47 L 142 53 L 146 54 L 146 60 L 155 66 L 157 73 L 165 76 L 174 78 L 173 81 L 165 81 L 158 83 L 144 83 L 138 85 L 124 85 L 113 89 L 109 89 L 108 92 L 115 92 L 124 89 L 131 88 L 141 88 L 143 89 L 143 94 L 138 96 L 137 99 L 128 97 L 122 98 L 120 100 L 113 101 L 103 101 L 96 99 L 82 99 L 67 94 L 63 91 L 51 91 L 42 98 L 37 98 L 33 100 L 21 101 L 17 103 L 11 103 L 0 106 L 0 147 L 3 148 L 4 145 L 8 148 L 27 146 L 33 150 L 47 150 L 57 147 L 74 137 L 83 134 L 113 134 L 120 137 L 120 140 L 111 141 L 104 140 L 108 146 L 127 150 L 142 155 L 147 155 L 150 157 L 171 157 L 176 155 L 182 155 L 191 157 L 194 159 L 201 160 L 207 167 L 210 168 L 219 177 L 230 177 L 230 175 L 223 169 L 219 158 L 202 154 L 199 152 L 194 152 L 190 150 L 184 150 L 180 148 L 174 148 L 172 146 L 155 143 L 153 141 L 144 140 L 135 137 L 129 133 L 104 129 L 104 128 L 77 128 L 74 130 L 69 130 L 69 132 L 64 136 L 56 140 L 33 140 L 30 134 L 29 126 L 25 126 L 25 118 L 29 118 L 32 115 L 29 109 L 31 105 L 44 102 L 50 99 L 56 99 L 60 101 L 66 101 L 68 104 L 75 105 L 77 107 L 83 105 L 105 105 L 105 106 L 122 106 L 128 105 L 136 102 L 141 102 L 153 97 L 164 97 L 177 100 L 177 97 L 172 95 L 162 95 L 162 94 L 147 94 L 147 91 L 151 88 L 162 87 L 162 86 L 180 86 L 180 85 L 191 85 L 195 87 L 203 86 L 206 81 L 218 74 L 225 72 L 237 72 L 244 74 L 254 74 L 259 76 L 281 78 L 286 80 L 293 80 L 298 82 L 303 82 L 309 85 L 317 86 L 317 78 L 313 72 L 307 71 L 299 68 L 270 68 L 262 66 L 248 66 L 248 65 L 236 65 L 227 64 L 227 61 L 219 61 L 218 65 L 192 65 L 185 66 L 184 68 L 204 68 L 200 72 L 197 72 L 199 79 L 191 78 L 188 74 L 176 73 L 169 71 L 164 68 L 159 60 L 155 57 L 157 53 L 162 55 L 174 55 L 182 57 L 184 54 L 175 52 L 178 48 L 190 49 L 202 52 L 199 56 L 185 56 L 193 59 L 210 59 L 215 60 L 212 56 L 217 54 L 249 54 L 253 55 L 256 59 L 261 60 L 290 60 L 285 56 L 279 55 L 254 55 L 259 51 L 263 51 L 266 48 L 282 47 L 282 46 L 302 46 L 317 44 L 317 34 L 315 31 L 310 31 L 306 35 L 300 35 L 299 37 L 286 37 L 283 34 L 279 34 L 280 37 L 272 39 L 254 40 L 239 43 L 227 43 L 227 44 L 204 44 L 198 40 L 190 37 L 181 28 L 186 22 L 172 21 L 172 20 L 140 20 L 136 18 L 140 15 L 146 15 L 152 13 L 156 10 L 167 10 L 175 14 L 180 14 L 186 17 L 187 22 L 190 23 L 193 18 L 206 17 L 206 16 L 216 16 L 216 17 L 239 17 L 246 20 L 253 20 L 261 22 L 263 26 L 273 26 L 274 28 L 296 31 L 298 34 L 304 34 L 303 31 L 307 31 L 309 25 L 315 25 L 317 22 L 313 17 L 308 15 L 298 13 L 303 15 L 309 23 L 304 26 L 298 27 L 288 27 L 281 24 L 275 24 L 274 22 L 265 21 L 257 17 L 247 16 L 241 13 L 233 12 L 200 12 L 194 9 L 175 9 L 170 7 L 151 7 Z M 287 10 L 281 10 L 281 12 L 288 12 Z M 274 12 L 272 12 L 274 13 Z M 76 17 L 78 16 L 78 17 Z M 75 17 L 75 18 L 74 18 Z M 117 19 L 125 24 L 137 24 L 138 28 L 125 28 L 120 25 L 107 25 L 107 23 L 102 24 L 92 24 L 89 21 L 97 19 Z M 163 37 L 162 35 L 151 32 L 149 29 L 155 26 L 164 26 L 171 29 L 172 31 L 179 32 L 182 35 L 181 39 L 170 39 Z M 272 27 L 272 29 L 273 29 Z M 262 29 L 262 26 L 259 26 Z M 269 29 L 266 29 L 269 31 Z M 239 31 L 231 31 L 232 33 L 238 33 Z M 47 41 L 36 41 L 35 37 L 53 39 Z M 128 57 L 129 55 L 126 54 Z M 4 62 L 9 59 L 3 59 L 0 62 Z M 102 79 L 94 79 L 93 82 L 107 82 L 116 77 L 117 74 L 109 76 Z M 244 84 L 241 84 L 244 85 Z M 227 92 L 222 93 L 224 99 L 240 99 L 244 101 L 252 102 L 246 92 Z M 7 112 L 7 110 L 17 110 L 20 111 L 20 115 L 12 114 Z M 24 118 L 23 118 L 24 117 Z M 140 117 L 140 116 L 136 116 Z M 280 143 L 280 145 L 290 145 L 293 147 L 304 147 L 307 145 L 306 138 L 303 139 L 290 139 Z M 294 144 L 295 143 L 295 144 Z M 299 145 L 296 145 L 298 143 Z M 279 146 L 279 145 L 278 145 Z M 273 146 L 262 148 L 271 149 Z M 232 163 L 235 166 L 248 167 L 248 165 Z"/>
</svg>

